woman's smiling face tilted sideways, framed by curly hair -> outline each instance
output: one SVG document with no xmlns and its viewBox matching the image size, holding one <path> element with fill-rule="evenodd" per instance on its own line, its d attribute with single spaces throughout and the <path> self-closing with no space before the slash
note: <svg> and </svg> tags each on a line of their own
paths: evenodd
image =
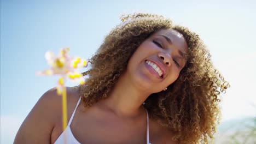
<svg viewBox="0 0 256 144">
<path fill-rule="evenodd" d="M 146 39 L 130 58 L 126 74 L 136 87 L 157 93 L 177 80 L 188 45 L 182 34 L 162 29 Z"/>
</svg>

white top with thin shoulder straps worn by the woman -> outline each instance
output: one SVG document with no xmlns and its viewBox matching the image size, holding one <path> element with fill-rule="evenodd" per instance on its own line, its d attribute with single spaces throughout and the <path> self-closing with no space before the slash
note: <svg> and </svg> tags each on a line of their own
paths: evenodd
<svg viewBox="0 0 256 144">
<path fill-rule="evenodd" d="M 77 102 L 77 106 L 79 105 L 81 101 L 81 98 L 79 98 L 78 102 Z M 75 139 L 74 135 L 72 134 L 72 131 L 71 131 L 71 128 L 70 128 L 70 125 L 72 123 L 72 120 L 73 120 L 73 117 L 74 117 L 74 113 L 75 113 L 75 110 L 77 110 L 77 106 L 75 106 L 75 109 L 72 113 L 72 116 L 71 118 L 69 119 L 69 122 L 68 122 L 68 125 L 66 127 L 66 129 L 61 133 L 61 135 L 58 137 L 58 139 L 54 142 L 54 144 L 62 144 L 62 143 L 65 143 L 65 135 L 67 140 L 66 140 L 66 144 L 80 144 L 80 142 L 77 141 L 77 139 Z M 149 128 L 148 128 L 148 111 L 146 110 L 147 112 L 147 144 L 151 144 L 149 142 Z"/>
</svg>

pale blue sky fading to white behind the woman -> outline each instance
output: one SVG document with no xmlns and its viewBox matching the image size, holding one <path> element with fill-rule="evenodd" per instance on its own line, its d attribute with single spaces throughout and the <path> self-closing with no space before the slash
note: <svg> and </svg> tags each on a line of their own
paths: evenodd
<svg viewBox="0 0 256 144">
<path fill-rule="evenodd" d="M 48 68 L 44 53 L 70 47 L 90 58 L 122 14 L 169 17 L 205 41 L 212 61 L 231 88 L 222 97 L 223 121 L 255 116 L 255 1 L 1 1 L 1 142 L 16 131 L 57 77 L 35 75 Z M 67 86 L 75 83 L 68 82 Z"/>
</svg>

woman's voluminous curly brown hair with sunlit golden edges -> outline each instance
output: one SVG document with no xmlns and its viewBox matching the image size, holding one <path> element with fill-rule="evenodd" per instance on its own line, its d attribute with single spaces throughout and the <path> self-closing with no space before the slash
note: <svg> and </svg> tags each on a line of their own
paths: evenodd
<svg viewBox="0 0 256 144">
<path fill-rule="evenodd" d="M 79 94 L 85 107 L 107 98 L 110 90 L 127 67 L 137 47 L 161 29 L 174 29 L 187 41 L 187 63 L 178 79 L 167 91 L 153 93 L 144 107 L 149 117 L 174 132 L 179 143 L 208 143 L 216 133 L 219 122 L 220 92 L 229 87 L 223 76 L 213 67 L 210 52 L 194 32 L 173 25 L 170 19 L 152 14 L 131 14 L 121 17 L 121 23 L 104 39 L 90 59 L 91 69 Z"/>
</svg>

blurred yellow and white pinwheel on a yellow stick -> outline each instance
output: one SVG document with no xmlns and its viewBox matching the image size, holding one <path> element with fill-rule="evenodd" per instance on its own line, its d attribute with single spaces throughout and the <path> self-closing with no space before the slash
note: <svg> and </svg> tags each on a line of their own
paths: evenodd
<svg viewBox="0 0 256 144">
<path fill-rule="evenodd" d="M 62 95 L 62 122 L 63 131 L 67 127 L 67 94 L 65 81 L 67 78 L 75 82 L 84 83 L 83 75 L 79 73 L 79 68 L 87 66 L 87 61 L 80 57 L 69 56 L 69 49 L 62 49 L 58 56 L 53 52 L 45 53 L 45 59 L 50 65 L 49 69 L 38 71 L 38 75 L 60 75 L 57 82 L 57 93 Z M 65 140 L 66 141 L 66 140 Z"/>
</svg>

